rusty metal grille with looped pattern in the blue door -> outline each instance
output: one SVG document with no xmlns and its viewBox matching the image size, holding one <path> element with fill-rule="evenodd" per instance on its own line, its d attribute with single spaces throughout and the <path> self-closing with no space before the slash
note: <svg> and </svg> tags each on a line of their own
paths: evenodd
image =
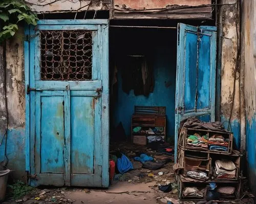
<svg viewBox="0 0 256 204">
<path fill-rule="evenodd" d="M 41 80 L 92 79 L 91 31 L 40 31 Z"/>
</svg>

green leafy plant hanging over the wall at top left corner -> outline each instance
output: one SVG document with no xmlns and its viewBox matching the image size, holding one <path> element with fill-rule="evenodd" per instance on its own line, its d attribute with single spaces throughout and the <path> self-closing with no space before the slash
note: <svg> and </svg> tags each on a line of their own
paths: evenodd
<svg viewBox="0 0 256 204">
<path fill-rule="evenodd" d="M 0 2 L 0 42 L 15 35 L 18 25 L 36 25 L 37 15 L 23 0 L 1 0 Z"/>
</svg>

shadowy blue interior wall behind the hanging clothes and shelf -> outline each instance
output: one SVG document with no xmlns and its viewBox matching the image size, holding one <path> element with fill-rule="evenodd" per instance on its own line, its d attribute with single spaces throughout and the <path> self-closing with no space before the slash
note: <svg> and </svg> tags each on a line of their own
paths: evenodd
<svg viewBox="0 0 256 204">
<path fill-rule="evenodd" d="M 136 30 L 135 30 L 136 31 Z M 135 32 L 133 31 L 133 32 Z M 145 32 L 145 30 L 144 30 Z M 167 137 L 174 137 L 175 131 L 175 82 L 176 82 L 176 31 L 151 31 L 144 33 L 124 32 L 122 38 L 128 38 L 125 47 L 122 49 L 116 44 L 115 50 L 125 55 L 126 53 L 140 53 L 141 47 L 146 48 L 145 52 L 151 52 L 154 61 L 154 91 L 149 96 L 135 96 L 133 90 L 127 95 L 122 91 L 122 78 L 118 72 L 117 98 L 113 105 L 113 123 L 117 126 L 120 122 L 124 127 L 126 135 L 131 135 L 131 119 L 134 114 L 134 106 L 166 106 L 167 115 Z M 128 36 L 126 36 L 126 35 Z M 129 36 L 138 36 L 133 38 Z M 117 40 L 117 38 L 115 38 Z M 150 42 L 151 47 L 146 43 Z M 127 52 L 128 50 L 128 52 Z M 124 62 L 125 63 L 125 62 Z"/>
</svg>

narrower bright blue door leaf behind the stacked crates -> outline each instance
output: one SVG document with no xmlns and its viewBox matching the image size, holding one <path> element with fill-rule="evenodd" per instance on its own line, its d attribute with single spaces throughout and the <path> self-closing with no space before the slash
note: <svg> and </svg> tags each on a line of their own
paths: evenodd
<svg viewBox="0 0 256 204">
<path fill-rule="evenodd" d="M 216 35 L 216 27 L 178 24 L 176 150 L 181 120 L 215 121 Z"/>
</svg>

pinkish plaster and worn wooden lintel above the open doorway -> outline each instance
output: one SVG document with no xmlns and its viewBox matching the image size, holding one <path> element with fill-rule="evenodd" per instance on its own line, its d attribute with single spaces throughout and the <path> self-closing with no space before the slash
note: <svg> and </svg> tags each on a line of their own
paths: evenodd
<svg viewBox="0 0 256 204">
<path fill-rule="evenodd" d="M 210 19 L 210 4 L 211 0 L 113 0 L 111 10 L 116 19 Z"/>
</svg>

